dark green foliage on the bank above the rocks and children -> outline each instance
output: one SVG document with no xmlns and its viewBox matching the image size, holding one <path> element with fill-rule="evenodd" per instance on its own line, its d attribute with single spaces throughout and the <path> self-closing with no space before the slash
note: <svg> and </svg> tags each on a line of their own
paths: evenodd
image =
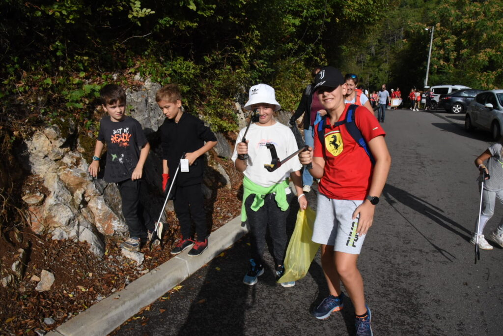
<svg viewBox="0 0 503 336">
<path fill-rule="evenodd" d="M 369 0 L 6 0 L 0 104 L 22 101 L 41 121 L 70 116 L 91 130 L 102 85 L 112 75 L 138 85 L 139 73 L 178 83 L 191 113 L 234 130 L 249 86 L 273 85 L 293 110 L 311 66 L 337 60 L 341 31 L 374 23 L 374 9 Z"/>
</svg>

